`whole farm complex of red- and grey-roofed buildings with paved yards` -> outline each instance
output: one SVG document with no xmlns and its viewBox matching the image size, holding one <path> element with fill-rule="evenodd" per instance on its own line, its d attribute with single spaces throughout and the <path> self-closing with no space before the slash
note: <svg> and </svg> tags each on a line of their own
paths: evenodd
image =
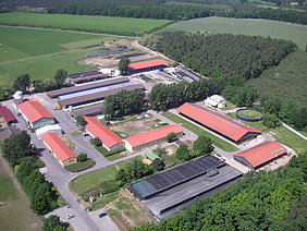
<svg viewBox="0 0 307 231">
<path fill-rule="evenodd" d="M 121 158 L 127 161 L 139 158 L 150 167 L 157 159 L 157 162 L 165 161 L 163 171 L 134 180 L 123 189 L 130 200 L 139 204 L 157 220 L 173 217 L 196 198 L 225 189 L 250 170 L 270 170 L 272 163 L 290 153 L 288 147 L 271 136 L 228 117 L 222 111 L 226 100 L 219 95 L 204 101 L 184 102 L 168 111 L 154 111 L 148 95 L 156 84 L 197 83 L 202 77 L 184 68 L 171 68 L 170 63 L 171 60 L 161 58 L 135 61 L 128 64 L 126 76 L 116 70 L 103 72 L 96 68 L 70 74 L 66 87 L 61 89 L 29 96 L 16 93 L 13 100 L 0 107 L 1 123 L 9 126 L 5 133 L 0 132 L 1 139 L 27 130 L 32 145 L 47 161 L 44 171 L 51 172 L 50 175 L 53 169 L 58 169 L 57 174 L 61 172 L 62 177 L 56 180 L 78 179 L 85 174 L 85 169 L 69 172 L 70 167 L 79 165 L 79 155 L 84 154 L 93 161 L 86 172 L 114 165 L 119 171 L 118 165 L 124 162 Z M 106 97 L 134 89 L 145 93 L 145 109 L 138 114 L 108 120 L 103 112 Z M 214 151 L 189 161 L 180 160 L 176 151 L 182 146 L 192 150 L 199 136 L 197 131 L 217 138 L 212 142 Z M 170 135 L 173 139 L 168 138 Z M 231 146 L 233 151 L 223 150 L 219 142 Z M 103 178 L 111 179 L 110 175 Z M 84 199 L 87 210 L 96 199 L 105 198 L 102 191 L 90 194 L 101 179 L 96 179 L 85 193 L 77 192 L 78 200 Z"/>
</svg>

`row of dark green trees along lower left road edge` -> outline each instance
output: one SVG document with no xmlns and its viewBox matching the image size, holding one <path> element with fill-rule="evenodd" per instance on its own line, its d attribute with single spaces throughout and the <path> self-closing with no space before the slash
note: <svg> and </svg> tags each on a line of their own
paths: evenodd
<svg viewBox="0 0 307 231">
<path fill-rule="evenodd" d="M 16 179 L 29 198 L 30 208 L 37 215 L 45 215 L 58 207 L 56 191 L 36 168 L 44 167 L 33 151 L 30 137 L 26 131 L 4 139 L 3 157 L 14 169 Z"/>
</svg>

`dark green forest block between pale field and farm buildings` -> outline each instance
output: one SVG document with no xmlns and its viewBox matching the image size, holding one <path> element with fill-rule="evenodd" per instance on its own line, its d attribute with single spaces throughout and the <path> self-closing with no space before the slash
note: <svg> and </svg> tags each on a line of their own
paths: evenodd
<svg viewBox="0 0 307 231">
<path fill-rule="evenodd" d="M 202 75 L 218 71 L 246 80 L 278 65 L 295 48 L 291 41 L 269 37 L 184 32 L 149 35 L 142 42 Z"/>
</svg>

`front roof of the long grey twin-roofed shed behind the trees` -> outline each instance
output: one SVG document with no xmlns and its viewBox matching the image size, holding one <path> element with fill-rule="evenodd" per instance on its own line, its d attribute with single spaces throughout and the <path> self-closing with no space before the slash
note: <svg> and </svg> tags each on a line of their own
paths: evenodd
<svg viewBox="0 0 307 231">
<path fill-rule="evenodd" d="M 100 92 L 98 90 L 98 92 L 93 92 L 93 93 L 87 94 L 87 95 L 76 95 L 72 98 L 61 99 L 61 100 L 59 100 L 59 105 L 62 108 L 67 108 L 69 106 L 75 107 L 75 106 L 90 104 L 90 102 L 95 102 L 95 101 L 101 101 L 102 99 L 105 99 L 105 97 L 112 96 L 112 95 L 114 95 L 118 92 L 121 92 L 123 89 L 134 90 L 134 89 L 145 89 L 145 87 L 144 87 L 143 84 L 128 84 L 126 86 L 121 86 L 121 87 L 109 86 L 109 88 L 105 88 L 103 90 L 101 89 Z"/>
</svg>

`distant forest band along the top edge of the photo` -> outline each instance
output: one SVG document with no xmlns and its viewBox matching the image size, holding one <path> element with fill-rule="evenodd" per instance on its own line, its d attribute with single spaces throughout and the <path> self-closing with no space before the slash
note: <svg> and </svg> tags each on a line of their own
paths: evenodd
<svg viewBox="0 0 307 231">
<path fill-rule="evenodd" d="M 259 8 L 244 0 L 204 0 L 196 2 L 193 0 L 0 0 L 0 12 L 22 10 L 23 7 L 44 8 L 46 9 L 45 12 L 60 14 L 89 14 L 157 20 L 189 20 L 206 16 L 225 16 L 237 19 L 266 19 L 307 24 L 307 15 L 304 11 Z M 41 10 L 38 12 L 41 12 Z"/>
</svg>

